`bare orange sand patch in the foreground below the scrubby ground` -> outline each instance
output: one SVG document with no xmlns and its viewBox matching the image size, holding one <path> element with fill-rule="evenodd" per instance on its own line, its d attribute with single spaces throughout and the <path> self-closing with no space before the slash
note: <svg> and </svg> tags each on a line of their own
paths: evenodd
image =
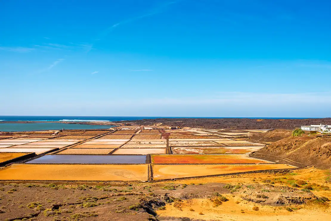
<svg viewBox="0 0 331 221">
<path fill-rule="evenodd" d="M 291 221 L 291 220 L 331 220 L 331 209 L 304 205 L 301 209 L 289 212 L 283 207 L 260 205 L 258 203 L 242 200 L 239 197 L 224 195 L 229 201 L 214 206 L 209 199 L 189 199 L 178 204 L 167 204 L 165 210 L 158 210 L 161 217 L 189 217 L 199 220 L 240 220 L 240 221 Z M 236 203 L 239 202 L 239 203 Z M 174 205 L 177 205 L 176 207 Z M 253 206 L 259 210 L 254 211 Z M 194 211 L 190 211 L 194 210 Z M 243 211 L 243 212 L 242 212 Z M 203 213 L 200 215 L 199 213 Z"/>
</svg>

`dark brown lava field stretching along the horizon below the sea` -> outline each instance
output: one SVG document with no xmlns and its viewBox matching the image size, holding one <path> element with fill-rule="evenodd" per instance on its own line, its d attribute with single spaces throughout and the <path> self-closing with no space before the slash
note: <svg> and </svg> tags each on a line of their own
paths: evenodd
<svg viewBox="0 0 331 221">
<path fill-rule="evenodd" d="M 294 129 L 302 125 L 331 124 L 331 118 L 309 119 L 250 119 L 250 118 L 157 118 L 130 121 L 114 121 L 114 123 L 136 122 L 139 125 L 180 126 L 206 129 Z"/>
</svg>

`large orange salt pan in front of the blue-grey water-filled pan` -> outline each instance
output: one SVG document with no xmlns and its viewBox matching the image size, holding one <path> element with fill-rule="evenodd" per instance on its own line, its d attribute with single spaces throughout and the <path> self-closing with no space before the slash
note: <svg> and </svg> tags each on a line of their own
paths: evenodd
<svg viewBox="0 0 331 221">
<path fill-rule="evenodd" d="M 12 164 L 0 170 L 0 180 L 89 180 L 145 181 L 147 164 Z"/>
</svg>

